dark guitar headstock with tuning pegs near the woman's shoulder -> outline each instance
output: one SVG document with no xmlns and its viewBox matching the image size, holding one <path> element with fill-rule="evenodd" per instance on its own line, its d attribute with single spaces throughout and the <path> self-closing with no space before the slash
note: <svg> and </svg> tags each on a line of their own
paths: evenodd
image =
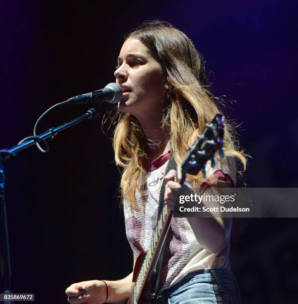
<svg viewBox="0 0 298 304">
<path fill-rule="evenodd" d="M 197 175 L 200 170 L 203 177 L 206 177 L 206 162 L 211 159 L 212 167 L 215 166 L 214 153 L 220 150 L 221 157 L 224 157 L 224 116 L 217 114 L 202 135 L 197 136 L 197 141 L 189 147 L 188 152 L 178 166 L 178 179 L 182 183 L 186 173 Z"/>
</svg>

